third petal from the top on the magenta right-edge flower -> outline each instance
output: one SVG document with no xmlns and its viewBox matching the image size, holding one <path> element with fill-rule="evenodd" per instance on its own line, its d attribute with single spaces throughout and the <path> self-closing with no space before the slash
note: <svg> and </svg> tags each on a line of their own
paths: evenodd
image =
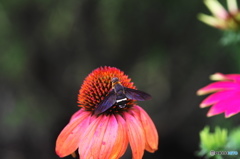
<svg viewBox="0 0 240 159">
<path fill-rule="evenodd" d="M 216 93 L 208 96 L 206 99 L 204 99 L 201 102 L 200 107 L 205 108 L 207 106 L 213 105 L 214 103 L 217 103 L 221 100 L 225 100 L 225 99 L 235 95 L 236 93 L 238 93 L 238 92 L 231 91 L 231 90 L 216 92 Z"/>
</svg>

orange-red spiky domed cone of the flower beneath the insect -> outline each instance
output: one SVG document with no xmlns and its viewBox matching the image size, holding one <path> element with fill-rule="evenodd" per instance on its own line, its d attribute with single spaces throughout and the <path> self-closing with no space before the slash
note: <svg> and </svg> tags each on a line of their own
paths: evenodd
<svg viewBox="0 0 240 159">
<path fill-rule="evenodd" d="M 115 67 L 99 67 L 92 71 L 84 80 L 81 89 L 79 90 L 78 103 L 80 107 L 87 111 L 92 111 L 100 104 L 102 100 L 112 90 L 112 78 L 117 77 L 123 87 L 136 89 L 124 72 Z M 104 114 L 121 113 L 126 111 L 134 104 L 133 100 L 128 99 L 126 107 L 120 108 L 116 103 L 109 108 Z"/>
</svg>

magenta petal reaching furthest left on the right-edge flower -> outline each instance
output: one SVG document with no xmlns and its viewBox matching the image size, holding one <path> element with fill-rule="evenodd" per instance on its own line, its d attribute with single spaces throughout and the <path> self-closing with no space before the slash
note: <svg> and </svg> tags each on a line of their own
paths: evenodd
<svg viewBox="0 0 240 159">
<path fill-rule="evenodd" d="M 197 91 L 197 95 L 204 95 L 221 90 L 240 89 L 240 85 L 229 81 L 211 83 Z"/>
</svg>

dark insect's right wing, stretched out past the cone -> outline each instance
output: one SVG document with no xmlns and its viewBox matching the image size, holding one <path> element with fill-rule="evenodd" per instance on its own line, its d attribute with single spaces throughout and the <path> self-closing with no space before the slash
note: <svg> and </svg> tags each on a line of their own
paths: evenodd
<svg viewBox="0 0 240 159">
<path fill-rule="evenodd" d="M 132 99 L 132 100 L 138 100 L 138 101 L 145 101 L 152 99 L 151 95 L 136 90 L 136 89 L 131 89 L 131 88 L 124 88 L 125 89 L 125 95 L 127 98 Z"/>
</svg>

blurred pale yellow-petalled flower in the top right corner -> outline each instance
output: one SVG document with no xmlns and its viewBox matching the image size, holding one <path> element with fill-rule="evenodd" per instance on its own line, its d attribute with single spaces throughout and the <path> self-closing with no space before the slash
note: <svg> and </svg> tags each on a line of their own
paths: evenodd
<svg viewBox="0 0 240 159">
<path fill-rule="evenodd" d="M 200 13 L 200 21 L 223 30 L 240 29 L 240 12 L 236 0 L 227 0 L 228 11 L 217 0 L 204 0 L 204 3 L 213 16 Z"/>
</svg>

